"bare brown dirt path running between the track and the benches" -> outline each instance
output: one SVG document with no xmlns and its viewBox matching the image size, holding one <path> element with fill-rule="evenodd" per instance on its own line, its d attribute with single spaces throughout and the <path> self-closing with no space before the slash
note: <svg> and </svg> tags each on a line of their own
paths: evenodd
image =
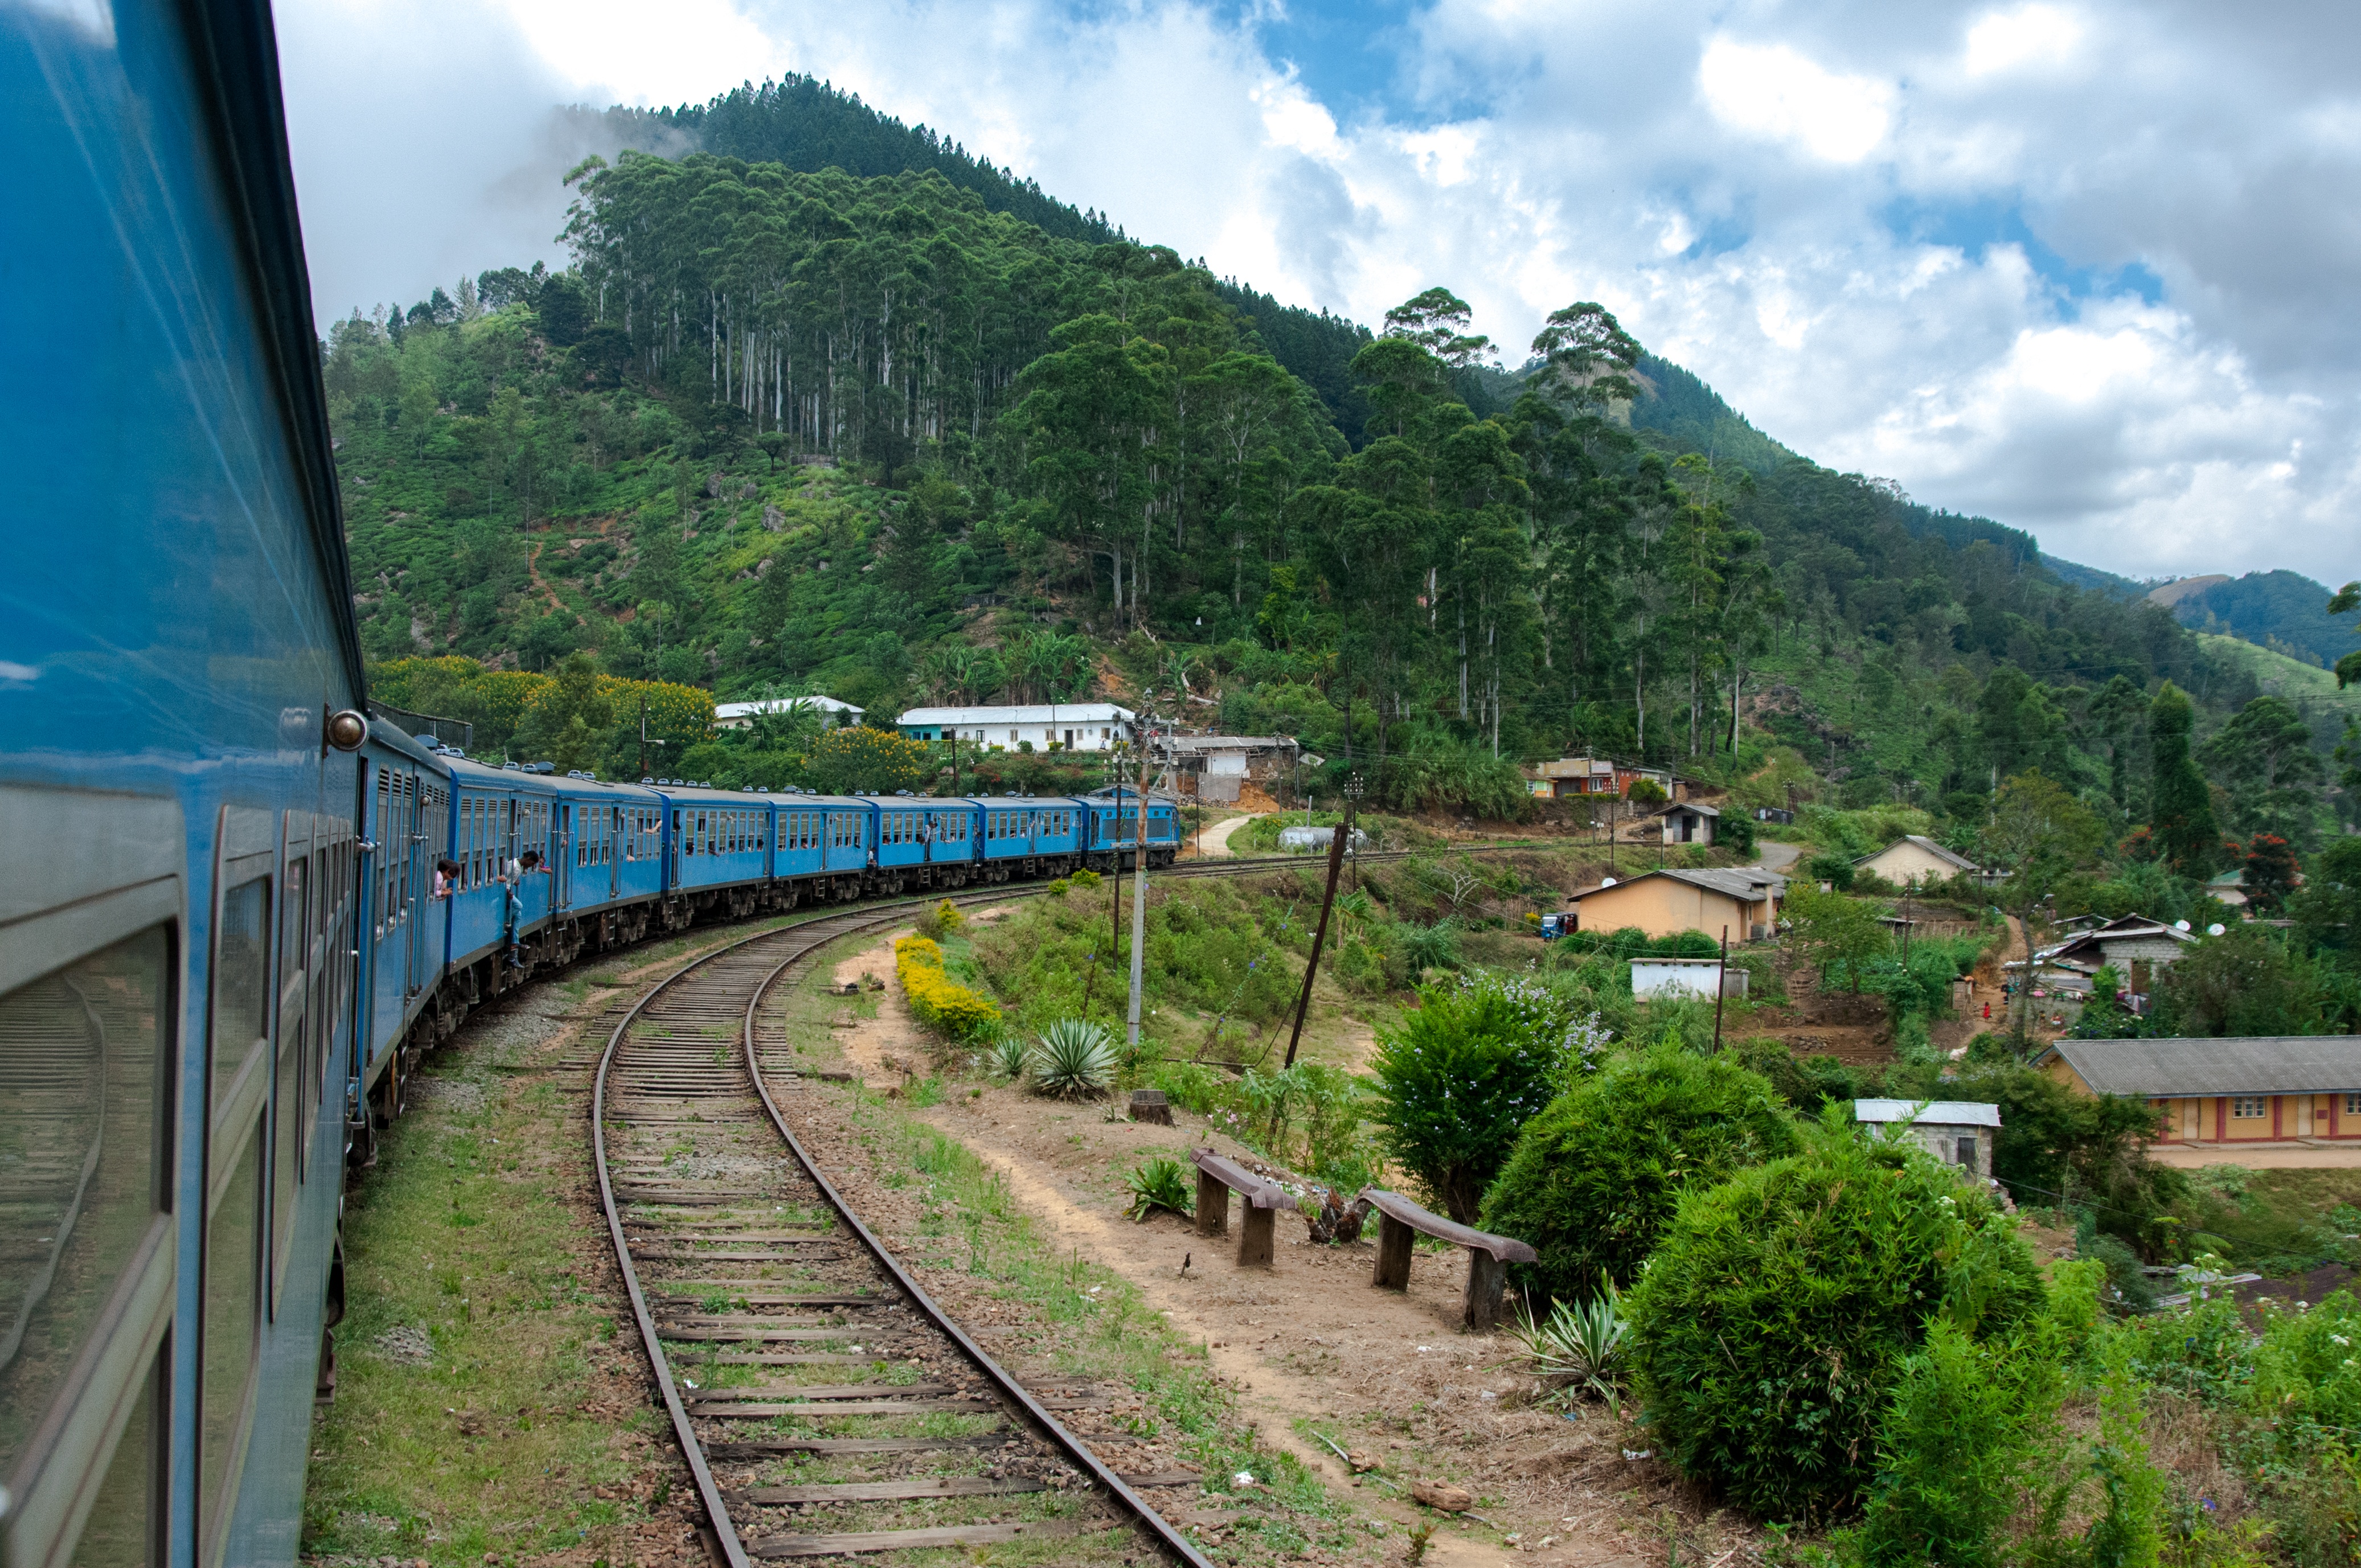
<svg viewBox="0 0 2361 1568">
<path fill-rule="evenodd" d="M 874 1018 L 829 1032 L 859 1072 L 923 1063 L 926 1039 L 895 997 L 890 942 L 852 954 L 836 973 L 888 982 L 871 992 Z M 1636 1551 L 1653 1556 L 1662 1509 L 1681 1497 L 1672 1474 L 1648 1457 L 1636 1426 L 1598 1407 L 1577 1419 L 1525 1403 L 1535 1384 L 1513 1344 L 1459 1327 L 1464 1254 L 1419 1252 L 1405 1294 L 1374 1292 L 1374 1230 L 1358 1244 L 1317 1247 L 1301 1219 L 1282 1214 L 1275 1266 L 1242 1270 L 1235 1211 L 1230 1237 L 1199 1237 L 1171 1214 L 1147 1223 L 1124 1216 L 1121 1178 L 1150 1155 L 1185 1159 L 1188 1148 L 1211 1143 L 1251 1157 L 1199 1117 L 1136 1124 L 1112 1103 L 1044 1100 L 1008 1084 L 975 1084 L 911 1115 L 973 1150 L 1055 1249 L 1124 1275 L 1173 1329 L 1204 1344 L 1265 1443 L 1405 1528 L 1421 1516 L 1407 1500 L 1412 1481 L 1469 1485 L 1476 1514 L 1516 1537 L 1504 1549 L 1466 1523 L 1445 1523 L 1428 1563 L 1636 1568 Z M 1376 1476 L 1355 1478 L 1320 1436 L 1374 1457 Z M 1724 1533 L 1716 1521 L 1688 1528 L 1695 1544 Z M 1714 1551 L 1733 1544 L 1719 1540 Z"/>
</svg>

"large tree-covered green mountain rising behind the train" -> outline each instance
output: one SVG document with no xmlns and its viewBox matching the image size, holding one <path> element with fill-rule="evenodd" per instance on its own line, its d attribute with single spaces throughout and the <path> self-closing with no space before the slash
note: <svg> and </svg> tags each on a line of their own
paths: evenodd
<svg viewBox="0 0 2361 1568">
<path fill-rule="evenodd" d="M 751 137 L 826 102 L 675 123 Z M 2163 607 L 1797 458 L 1594 305 L 1490 345 L 1438 288 L 1372 335 L 1044 229 L 1013 210 L 1029 187 L 966 168 L 994 194 L 935 165 L 593 161 L 569 272 L 338 324 L 371 654 L 590 652 L 881 716 L 1152 685 L 1398 801 L 1499 810 L 1528 756 L 1738 777 L 1787 744 L 1853 803 L 2040 765 L 2137 815 L 2125 692 L 2252 694 Z"/>
</svg>

